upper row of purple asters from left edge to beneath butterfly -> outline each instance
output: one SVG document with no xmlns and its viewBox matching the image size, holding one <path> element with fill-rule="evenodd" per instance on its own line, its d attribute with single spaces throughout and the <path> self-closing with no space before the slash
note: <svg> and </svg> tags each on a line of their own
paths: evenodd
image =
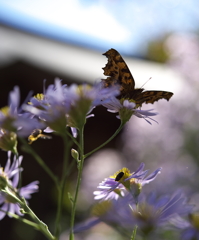
<svg viewBox="0 0 199 240">
<path fill-rule="evenodd" d="M 63 134 L 69 126 L 76 137 L 77 130 L 93 116 L 91 111 L 98 105 L 105 106 L 108 111 L 119 112 L 118 118 L 123 123 L 133 114 L 149 123 L 153 120 L 151 116 L 157 115 L 152 110 L 136 109 L 134 102 L 118 100 L 115 97 L 119 94 L 118 89 L 118 86 L 104 88 L 102 83 L 67 86 L 55 79 L 43 94 L 27 98 L 28 103 L 20 106 L 20 91 L 15 87 L 9 94 L 8 106 L 0 110 L 0 147 L 16 152 L 17 136 L 30 136 L 35 129 Z"/>
</svg>

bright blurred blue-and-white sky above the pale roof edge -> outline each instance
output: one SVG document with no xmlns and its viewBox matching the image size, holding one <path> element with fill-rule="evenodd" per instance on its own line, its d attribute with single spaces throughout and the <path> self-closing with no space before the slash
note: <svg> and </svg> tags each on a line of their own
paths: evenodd
<svg viewBox="0 0 199 240">
<path fill-rule="evenodd" d="M 142 55 L 148 41 L 197 31 L 198 0 L 0 0 L 0 22 L 94 49 Z"/>
</svg>

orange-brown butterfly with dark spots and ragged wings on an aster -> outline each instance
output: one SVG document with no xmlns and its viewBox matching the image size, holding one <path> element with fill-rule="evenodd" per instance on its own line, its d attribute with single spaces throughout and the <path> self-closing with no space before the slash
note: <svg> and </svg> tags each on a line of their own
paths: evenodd
<svg viewBox="0 0 199 240">
<path fill-rule="evenodd" d="M 119 99 L 129 99 L 136 103 L 137 107 L 141 107 L 143 103 L 154 103 L 159 99 L 169 99 L 173 96 L 172 92 L 166 91 L 144 91 L 144 88 L 135 88 L 134 78 L 121 57 L 119 52 L 111 48 L 103 53 L 108 58 L 108 63 L 104 68 L 104 75 L 108 76 L 102 79 L 104 87 L 120 85 Z"/>
</svg>

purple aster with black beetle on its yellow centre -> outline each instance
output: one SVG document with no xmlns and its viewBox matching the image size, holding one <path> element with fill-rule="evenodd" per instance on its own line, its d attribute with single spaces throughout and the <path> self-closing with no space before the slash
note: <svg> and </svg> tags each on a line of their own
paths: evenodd
<svg viewBox="0 0 199 240">
<path fill-rule="evenodd" d="M 142 187 L 153 181 L 161 171 L 161 168 L 158 168 L 146 177 L 148 170 L 143 171 L 144 167 L 145 164 L 141 163 L 134 173 L 130 173 L 128 168 L 122 168 L 109 178 L 105 178 L 97 187 L 100 190 L 94 191 L 94 199 L 117 200 L 119 197 L 125 196 L 128 192 L 137 198 Z"/>
</svg>

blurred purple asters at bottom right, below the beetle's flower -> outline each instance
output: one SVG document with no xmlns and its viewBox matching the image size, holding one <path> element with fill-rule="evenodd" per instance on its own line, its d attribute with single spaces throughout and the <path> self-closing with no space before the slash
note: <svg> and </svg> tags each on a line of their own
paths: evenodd
<svg viewBox="0 0 199 240">
<path fill-rule="evenodd" d="M 134 227 L 148 235 L 161 227 L 170 226 L 170 222 L 178 216 L 185 216 L 192 207 L 187 204 L 181 193 L 173 196 L 156 197 L 150 193 L 139 197 L 138 203 L 131 194 L 118 200 L 99 202 L 93 208 L 94 218 L 75 228 L 77 232 L 89 229 L 99 222 L 105 222 L 114 228 L 122 228 L 124 232 L 132 234 Z"/>
</svg>

